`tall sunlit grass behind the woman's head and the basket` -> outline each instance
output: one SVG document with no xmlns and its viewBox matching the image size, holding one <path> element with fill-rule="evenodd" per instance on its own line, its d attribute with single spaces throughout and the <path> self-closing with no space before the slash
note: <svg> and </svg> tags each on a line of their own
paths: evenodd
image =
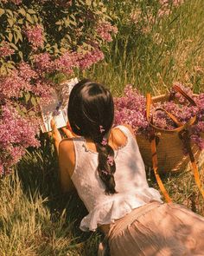
<svg viewBox="0 0 204 256">
<path fill-rule="evenodd" d="M 175 81 L 193 87 L 196 92 L 203 90 L 204 2 L 187 0 L 170 16 L 154 16 L 150 30 L 143 33 L 130 21 L 130 15 L 143 4 L 141 20 L 150 19 L 150 5 L 144 4 L 148 2 L 109 1 L 108 8 L 116 15 L 118 36 L 105 62 L 95 65 L 86 75 L 105 82 L 118 95 L 127 83 L 143 93 L 159 94 Z M 155 2 L 151 6 L 154 14 L 158 6 L 156 1 L 151 2 Z"/>
</svg>

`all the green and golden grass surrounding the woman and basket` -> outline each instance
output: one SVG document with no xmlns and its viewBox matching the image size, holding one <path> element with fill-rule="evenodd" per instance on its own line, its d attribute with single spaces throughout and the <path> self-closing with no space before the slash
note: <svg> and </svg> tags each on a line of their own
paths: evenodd
<svg viewBox="0 0 204 256">
<path fill-rule="evenodd" d="M 83 75 L 104 82 L 114 95 L 122 95 L 127 83 L 155 95 L 175 81 L 195 92 L 203 91 L 202 0 L 187 0 L 163 18 L 156 15 L 156 1 L 106 2 L 118 25 L 118 35 L 110 49 L 105 49 L 105 61 Z M 143 33 L 130 21 L 131 11 L 138 8 L 142 10 L 143 26 L 150 10 L 153 13 L 154 22 L 148 32 Z M 80 232 L 86 208 L 76 193 L 61 194 L 57 172 L 52 143 L 41 136 L 41 148 L 30 148 L 15 172 L 1 179 L 0 255 L 97 255 L 102 235 Z M 157 188 L 154 175 L 148 171 L 147 176 L 150 185 Z M 204 181 L 202 173 L 201 179 Z M 163 181 L 175 202 L 204 215 L 203 201 L 190 172 L 163 175 Z"/>
</svg>

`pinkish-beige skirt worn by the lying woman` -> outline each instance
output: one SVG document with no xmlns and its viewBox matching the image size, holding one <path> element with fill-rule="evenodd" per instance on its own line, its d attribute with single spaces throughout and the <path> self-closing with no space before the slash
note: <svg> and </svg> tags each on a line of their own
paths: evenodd
<svg viewBox="0 0 204 256">
<path fill-rule="evenodd" d="M 112 224 L 111 256 L 203 256 L 204 218 L 175 203 L 152 202 Z"/>
</svg>

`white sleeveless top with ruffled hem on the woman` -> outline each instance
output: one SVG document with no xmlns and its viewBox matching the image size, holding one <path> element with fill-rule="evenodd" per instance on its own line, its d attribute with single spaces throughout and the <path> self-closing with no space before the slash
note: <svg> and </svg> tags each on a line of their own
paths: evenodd
<svg viewBox="0 0 204 256">
<path fill-rule="evenodd" d="M 128 128 L 117 128 L 127 138 L 124 147 L 114 150 L 114 178 L 118 194 L 105 194 L 105 185 L 97 171 L 98 153 L 86 147 L 83 137 L 73 139 L 75 168 L 72 181 L 89 212 L 80 223 L 80 229 L 83 231 L 94 231 L 102 224 L 112 223 L 151 200 L 162 201 L 159 192 L 148 186 L 137 141 Z"/>
</svg>

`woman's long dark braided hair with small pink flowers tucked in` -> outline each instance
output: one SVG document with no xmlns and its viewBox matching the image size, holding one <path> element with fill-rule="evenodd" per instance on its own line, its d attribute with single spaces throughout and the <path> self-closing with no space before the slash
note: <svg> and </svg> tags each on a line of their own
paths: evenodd
<svg viewBox="0 0 204 256">
<path fill-rule="evenodd" d="M 112 128 L 112 94 L 102 84 L 84 79 L 72 89 L 68 102 L 68 120 L 73 133 L 88 137 L 99 153 L 98 172 L 105 184 L 105 194 L 115 194 L 114 151 L 105 140 Z"/>
</svg>

